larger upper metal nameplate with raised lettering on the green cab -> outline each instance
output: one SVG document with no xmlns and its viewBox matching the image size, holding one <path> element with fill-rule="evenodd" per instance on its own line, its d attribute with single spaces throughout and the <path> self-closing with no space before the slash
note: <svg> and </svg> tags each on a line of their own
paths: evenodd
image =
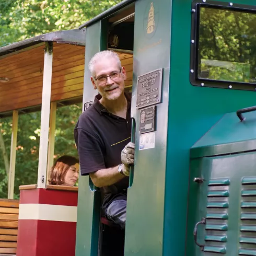
<svg viewBox="0 0 256 256">
<path fill-rule="evenodd" d="M 161 102 L 162 68 L 138 77 L 136 108 Z"/>
</svg>

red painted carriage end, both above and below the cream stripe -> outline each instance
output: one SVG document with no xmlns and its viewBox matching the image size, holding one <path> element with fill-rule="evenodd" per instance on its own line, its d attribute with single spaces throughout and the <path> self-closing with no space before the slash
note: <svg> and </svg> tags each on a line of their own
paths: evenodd
<svg viewBox="0 0 256 256">
<path fill-rule="evenodd" d="M 77 192 L 22 190 L 20 204 L 77 206 Z M 19 219 L 17 256 L 75 256 L 76 222 Z"/>
</svg>

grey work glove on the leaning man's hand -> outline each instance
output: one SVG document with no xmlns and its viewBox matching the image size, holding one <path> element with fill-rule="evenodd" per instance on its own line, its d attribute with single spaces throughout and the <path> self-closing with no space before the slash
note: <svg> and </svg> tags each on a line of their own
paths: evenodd
<svg viewBox="0 0 256 256">
<path fill-rule="evenodd" d="M 125 176 L 130 175 L 130 166 L 134 164 L 135 144 L 129 142 L 121 152 L 122 171 Z"/>
</svg>

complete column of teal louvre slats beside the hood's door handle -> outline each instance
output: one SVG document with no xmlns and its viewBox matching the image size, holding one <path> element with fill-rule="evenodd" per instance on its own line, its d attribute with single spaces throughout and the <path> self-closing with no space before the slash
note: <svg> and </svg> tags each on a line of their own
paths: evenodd
<svg viewBox="0 0 256 256">
<path fill-rule="evenodd" d="M 205 252 L 226 254 L 229 184 L 229 179 L 212 179 L 208 183 Z"/>
</svg>

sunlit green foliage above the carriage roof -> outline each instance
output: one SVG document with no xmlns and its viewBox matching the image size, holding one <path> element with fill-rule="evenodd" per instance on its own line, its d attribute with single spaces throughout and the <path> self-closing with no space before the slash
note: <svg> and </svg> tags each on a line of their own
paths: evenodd
<svg viewBox="0 0 256 256">
<path fill-rule="evenodd" d="M 78 28 L 120 0 L 0 0 L 0 46 Z"/>
</svg>

